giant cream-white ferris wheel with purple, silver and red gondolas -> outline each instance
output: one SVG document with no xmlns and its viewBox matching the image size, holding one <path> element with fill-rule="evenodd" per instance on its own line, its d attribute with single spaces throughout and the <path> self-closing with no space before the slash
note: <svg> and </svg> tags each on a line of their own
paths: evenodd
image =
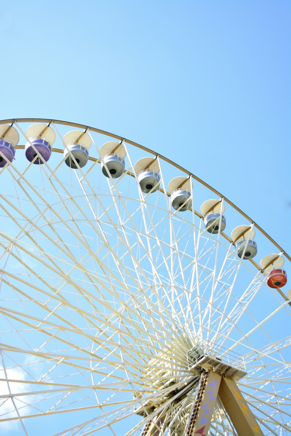
<svg viewBox="0 0 291 436">
<path fill-rule="evenodd" d="M 0 183 L 1 434 L 291 432 L 291 259 L 231 201 L 49 119 L 0 122 Z"/>
</svg>

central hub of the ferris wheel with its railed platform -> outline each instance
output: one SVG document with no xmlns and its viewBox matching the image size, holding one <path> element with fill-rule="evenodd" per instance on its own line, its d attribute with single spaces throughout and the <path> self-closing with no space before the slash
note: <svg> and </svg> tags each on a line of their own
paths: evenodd
<svg viewBox="0 0 291 436">
<path fill-rule="evenodd" d="M 139 399 L 135 408 L 138 415 L 152 412 L 169 399 L 179 402 L 195 388 L 202 373 L 217 371 L 233 380 L 247 374 L 242 356 L 209 341 L 190 348 L 186 358 L 187 369 L 162 351 L 148 362 L 144 371 L 144 391 L 135 395 Z"/>
</svg>

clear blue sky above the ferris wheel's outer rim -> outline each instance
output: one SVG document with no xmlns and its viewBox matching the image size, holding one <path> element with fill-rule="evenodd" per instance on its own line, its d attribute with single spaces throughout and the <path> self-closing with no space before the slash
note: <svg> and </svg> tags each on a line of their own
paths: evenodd
<svg viewBox="0 0 291 436">
<path fill-rule="evenodd" d="M 0 16 L 0 119 L 147 146 L 291 252 L 290 1 L 11 0 Z"/>
</svg>

